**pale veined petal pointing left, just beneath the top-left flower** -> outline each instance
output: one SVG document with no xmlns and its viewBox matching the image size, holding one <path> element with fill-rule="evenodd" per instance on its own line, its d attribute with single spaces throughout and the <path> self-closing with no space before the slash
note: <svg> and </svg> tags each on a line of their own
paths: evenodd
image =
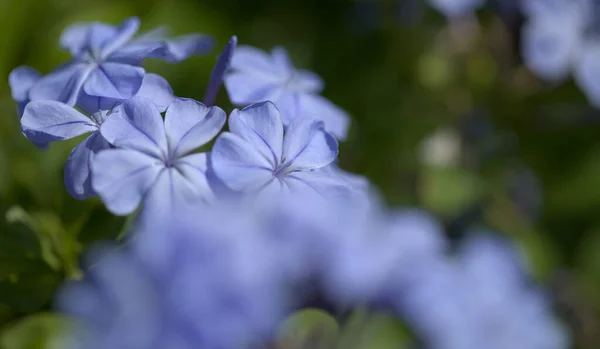
<svg viewBox="0 0 600 349">
<path fill-rule="evenodd" d="M 30 102 L 25 107 L 21 125 L 27 138 L 39 143 L 70 139 L 98 130 L 98 125 L 90 118 L 57 101 Z"/>
</svg>

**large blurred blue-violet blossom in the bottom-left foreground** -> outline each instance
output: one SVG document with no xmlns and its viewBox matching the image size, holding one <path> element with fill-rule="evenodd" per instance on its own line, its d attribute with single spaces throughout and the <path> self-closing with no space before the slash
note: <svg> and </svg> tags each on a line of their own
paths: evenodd
<svg viewBox="0 0 600 349">
<path fill-rule="evenodd" d="M 163 223 L 87 254 L 85 278 L 57 297 L 83 327 L 66 349 L 234 349 L 273 336 L 289 307 L 256 222 L 213 207 Z"/>
</svg>

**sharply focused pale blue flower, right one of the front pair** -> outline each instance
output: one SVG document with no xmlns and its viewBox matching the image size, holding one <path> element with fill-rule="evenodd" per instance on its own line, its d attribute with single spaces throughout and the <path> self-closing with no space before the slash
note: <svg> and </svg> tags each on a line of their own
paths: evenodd
<svg viewBox="0 0 600 349">
<path fill-rule="evenodd" d="M 230 132 L 211 152 L 216 176 L 239 192 L 284 194 L 316 192 L 347 195 L 346 181 L 323 168 L 337 157 L 338 144 L 322 121 L 295 119 L 285 129 L 271 102 L 234 110 Z"/>
</svg>

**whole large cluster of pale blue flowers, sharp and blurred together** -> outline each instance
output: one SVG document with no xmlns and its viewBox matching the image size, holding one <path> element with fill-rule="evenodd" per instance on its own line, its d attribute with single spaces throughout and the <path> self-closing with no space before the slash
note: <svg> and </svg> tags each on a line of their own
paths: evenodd
<svg viewBox="0 0 600 349">
<path fill-rule="evenodd" d="M 566 346 L 510 245 L 477 237 L 451 255 L 434 219 L 390 212 L 337 168 L 349 118 L 283 49 L 232 37 L 202 103 L 141 65 L 213 40 L 138 27 L 74 25 L 60 39 L 71 62 L 9 78 L 34 144 L 88 134 L 65 166 L 74 198 L 99 196 L 116 215 L 142 206 L 127 243 L 92 251 L 84 279 L 59 293 L 83 325 L 76 348 L 267 346 L 314 290 L 334 307 L 391 309 L 431 349 Z M 213 105 L 222 84 L 243 107 L 229 116 Z"/>
</svg>

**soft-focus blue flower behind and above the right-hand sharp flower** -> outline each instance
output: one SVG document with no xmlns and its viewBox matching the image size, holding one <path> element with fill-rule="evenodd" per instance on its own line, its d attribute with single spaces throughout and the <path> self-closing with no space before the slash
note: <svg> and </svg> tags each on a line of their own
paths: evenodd
<svg viewBox="0 0 600 349">
<path fill-rule="evenodd" d="M 294 68 L 281 47 L 271 54 L 250 46 L 238 47 L 231 71 L 225 76 L 225 87 L 237 106 L 275 103 L 286 126 L 294 119 L 322 120 L 338 139 L 345 139 L 348 133 L 350 118 L 346 112 L 319 95 L 323 90 L 321 78 Z"/>
</svg>

